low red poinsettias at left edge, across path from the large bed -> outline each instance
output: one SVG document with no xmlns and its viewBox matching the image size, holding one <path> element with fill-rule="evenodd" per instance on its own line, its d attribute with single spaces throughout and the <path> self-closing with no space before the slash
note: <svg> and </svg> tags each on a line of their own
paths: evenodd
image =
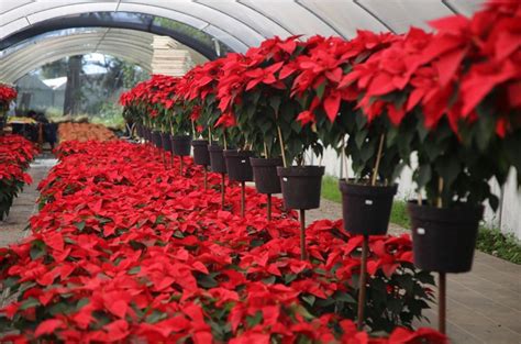
<svg viewBox="0 0 521 344">
<path fill-rule="evenodd" d="M 23 136 L 0 136 L 0 220 L 9 215 L 23 186 L 32 182 L 25 169 L 35 154 L 35 146 Z"/>
</svg>

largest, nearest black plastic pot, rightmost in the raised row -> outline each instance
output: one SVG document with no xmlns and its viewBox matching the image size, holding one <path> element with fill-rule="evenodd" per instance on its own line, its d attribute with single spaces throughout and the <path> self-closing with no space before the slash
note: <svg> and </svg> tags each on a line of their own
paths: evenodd
<svg viewBox="0 0 521 344">
<path fill-rule="evenodd" d="M 484 208 L 451 209 L 419 207 L 409 201 L 414 265 L 439 273 L 466 273 L 473 266 L 474 249 Z"/>
</svg>

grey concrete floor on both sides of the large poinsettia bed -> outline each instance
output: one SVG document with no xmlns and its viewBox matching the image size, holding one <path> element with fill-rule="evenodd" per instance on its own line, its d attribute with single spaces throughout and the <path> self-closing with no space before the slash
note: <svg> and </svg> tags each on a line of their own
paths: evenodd
<svg viewBox="0 0 521 344">
<path fill-rule="evenodd" d="M 25 187 L 14 201 L 7 221 L 0 222 L 0 246 L 23 238 L 30 217 L 37 212 L 36 187 L 46 176 L 53 159 L 32 164 L 30 174 L 34 182 Z M 308 224 L 319 219 L 341 217 L 339 203 L 322 200 L 321 208 L 307 212 Z M 389 233 L 407 230 L 391 224 Z M 430 322 L 417 326 L 437 326 L 436 304 L 425 312 Z M 521 343 L 521 265 L 511 264 L 488 254 L 476 252 L 473 270 L 448 275 L 447 278 L 447 334 L 453 343 Z"/>
</svg>

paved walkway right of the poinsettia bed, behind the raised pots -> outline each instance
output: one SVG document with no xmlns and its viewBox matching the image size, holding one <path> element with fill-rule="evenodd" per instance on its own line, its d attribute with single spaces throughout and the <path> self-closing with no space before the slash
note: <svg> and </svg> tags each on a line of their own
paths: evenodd
<svg viewBox="0 0 521 344">
<path fill-rule="evenodd" d="M 320 209 L 307 212 L 308 224 L 340 217 L 342 206 L 324 199 Z M 406 232 L 389 228 L 391 234 Z M 425 312 L 430 322 L 417 326 L 437 328 L 437 306 L 431 307 Z M 476 251 L 470 273 L 448 275 L 447 334 L 455 344 L 521 344 L 521 265 Z"/>
</svg>

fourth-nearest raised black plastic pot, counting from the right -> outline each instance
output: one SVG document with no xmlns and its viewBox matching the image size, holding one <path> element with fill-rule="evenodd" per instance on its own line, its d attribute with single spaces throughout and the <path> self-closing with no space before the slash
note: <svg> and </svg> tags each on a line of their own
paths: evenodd
<svg viewBox="0 0 521 344">
<path fill-rule="evenodd" d="M 277 175 L 277 167 L 282 166 L 282 158 L 258 158 L 251 157 L 250 163 L 253 169 L 253 179 L 258 193 L 280 193 L 280 178 Z"/>
</svg>

